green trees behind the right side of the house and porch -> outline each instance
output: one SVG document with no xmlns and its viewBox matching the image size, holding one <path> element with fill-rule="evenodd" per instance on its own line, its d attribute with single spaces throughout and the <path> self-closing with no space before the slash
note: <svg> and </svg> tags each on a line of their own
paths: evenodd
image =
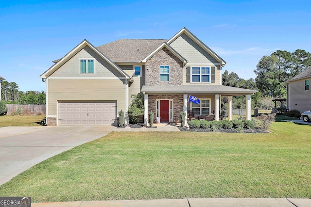
<svg viewBox="0 0 311 207">
<path fill-rule="evenodd" d="M 310 66 L 311 53 L 303 49 L 296 49 L 294 52 L 276 50 L 259 60 L 254 70 L 257 75 L 255 80 L 244 80 L 236 73 L 228 74 L 225 71 L 222 76 L 223 85 L 259 91 L 252 96 L 252 106 L 268 109 L 273 107 L 273 98 L 286 98 L 286 81 Z M 245 97 L 237 96 L 232 100 L 234 108 L 245 107 Z"/>
</svg>

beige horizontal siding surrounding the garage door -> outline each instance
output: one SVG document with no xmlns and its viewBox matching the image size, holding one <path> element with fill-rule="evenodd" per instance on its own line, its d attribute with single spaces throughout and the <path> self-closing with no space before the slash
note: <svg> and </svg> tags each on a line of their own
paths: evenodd
<svg viewBox="0 0 311 207">
<path fill-rule="evenodd" d="M 116 100 L 117 111 L 126 111 L 125 80 L 48 79 L 49 116 L 56 115 L 57 100 Z"/>
</svg>

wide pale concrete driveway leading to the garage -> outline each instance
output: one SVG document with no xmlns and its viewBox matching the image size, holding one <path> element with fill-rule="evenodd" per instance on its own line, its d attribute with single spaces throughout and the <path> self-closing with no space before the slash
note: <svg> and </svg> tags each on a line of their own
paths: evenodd
<svg viewBox="0 0 311 207">
<path fill-rule="evenodd" d="M 0 185 L 35 164 L 116 127 L 0 127 Z"/>
</svg>

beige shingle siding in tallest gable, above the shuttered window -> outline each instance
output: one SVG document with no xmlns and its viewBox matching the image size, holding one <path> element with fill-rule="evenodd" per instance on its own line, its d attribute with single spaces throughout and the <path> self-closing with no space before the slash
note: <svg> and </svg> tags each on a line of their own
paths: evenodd
<svg viewBox="0 0 311 207">
<path fill-rule="evenodd" d="M 218 63 L 207 51 L 195 43 L 187 34 L 181 34 L 170 46 L 184 57 L 188 64 L 193 63 Z"/>
</svg>

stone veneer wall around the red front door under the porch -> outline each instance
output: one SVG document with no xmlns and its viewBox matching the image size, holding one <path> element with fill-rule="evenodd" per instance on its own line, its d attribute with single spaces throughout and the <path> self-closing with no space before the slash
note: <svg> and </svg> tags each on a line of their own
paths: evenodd
<svg viewBox="0 0 311 207">
<path fill-rule="evenodd" d="M 148 112 L 152 110 L 156 112 L 156 99 L 169 100 L 173 99 L 173 121 L 175 118 L 180 120 L 180 112 L 183 108 L 183 95 L 149 95 L 148 96 Z"/>
</svg>

